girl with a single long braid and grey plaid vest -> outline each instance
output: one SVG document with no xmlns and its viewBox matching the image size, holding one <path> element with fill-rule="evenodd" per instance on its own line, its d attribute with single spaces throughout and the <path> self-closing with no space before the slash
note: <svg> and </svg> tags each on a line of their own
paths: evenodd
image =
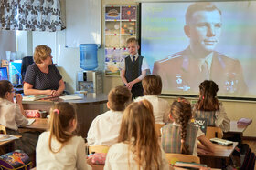
<svg viewBox="0 0 256 170">
<path fill-rule="evenodd" d="M 169 115 L 173 123 L 162 127 L 161 143 L 165 153 L 197 155 L 197 152 L 214 152 L 214 145 L 199 127 L 191 123 L 191 117 L 191 105 L 186 99 L 178 98 L 173 102 Z M 197 141 L 200 144 L 197 145 Z"/>
</svg>

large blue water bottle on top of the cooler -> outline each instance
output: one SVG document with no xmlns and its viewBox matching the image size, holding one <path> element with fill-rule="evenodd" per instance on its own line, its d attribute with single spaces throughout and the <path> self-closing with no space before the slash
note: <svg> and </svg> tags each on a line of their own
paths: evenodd
<svg viewBox="0 0 256 170">
<path fill-rule="evenodd" d="M 98 67 L 96 44 L 80 44 L 80 68 L 94 70 Z"/>
</svg>

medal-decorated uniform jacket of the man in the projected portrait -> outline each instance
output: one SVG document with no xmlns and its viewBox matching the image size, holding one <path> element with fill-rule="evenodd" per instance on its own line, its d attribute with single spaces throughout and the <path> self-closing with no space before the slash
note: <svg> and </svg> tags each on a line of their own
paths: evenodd
<svg viewBox="0 0 256 170">
<path fill-rule="evenodd" d="M 245 95 L 248 89 L 240 62 L 218 52 L 213 53 L 209 77 L 219 85 L 219 94 Z M 182 52 L 155 62 L 153 74 L 161 76 L 165 92 L 172 93 L 180 90 L 197 93 L 199 84 L 206 79 L 198 63 L 198 59 L 191 54 L 188 47 Z"/>
</svg>

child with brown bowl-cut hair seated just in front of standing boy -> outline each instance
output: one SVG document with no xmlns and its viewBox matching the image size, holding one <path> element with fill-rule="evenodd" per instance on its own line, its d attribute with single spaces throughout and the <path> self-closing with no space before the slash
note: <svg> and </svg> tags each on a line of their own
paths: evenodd
<svg viewBox="0 0 256 170">
<path fill-rule="evenodd" d="M 157 95 L 162 91 L 162 80 L 159 75 L 146 75 L 142 81 L 144 88 L 144 96 L 136 98 L 134 101 L 148 100 L 153 105 L 153 113 L 156 124 L 164 124 L 168 122 L 170 105 L 165 99 L 159 98 Z"/>
</svg>

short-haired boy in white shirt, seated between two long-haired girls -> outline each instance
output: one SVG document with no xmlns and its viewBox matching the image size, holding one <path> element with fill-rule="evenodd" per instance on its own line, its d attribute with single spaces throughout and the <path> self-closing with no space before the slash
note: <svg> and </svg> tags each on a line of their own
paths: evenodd
<svg viewBox="0 0 256 170">
<path fill-rule="evenodd" d="M 131 103 L 132 93 L 125 86 L 112 88 L 108 95 L 107 107 L 110 109 L 98 115 L 88 131 L 88 145 L 113 145 L 117 143 L 123 117 L 123 110 Z"/>
</svg>

